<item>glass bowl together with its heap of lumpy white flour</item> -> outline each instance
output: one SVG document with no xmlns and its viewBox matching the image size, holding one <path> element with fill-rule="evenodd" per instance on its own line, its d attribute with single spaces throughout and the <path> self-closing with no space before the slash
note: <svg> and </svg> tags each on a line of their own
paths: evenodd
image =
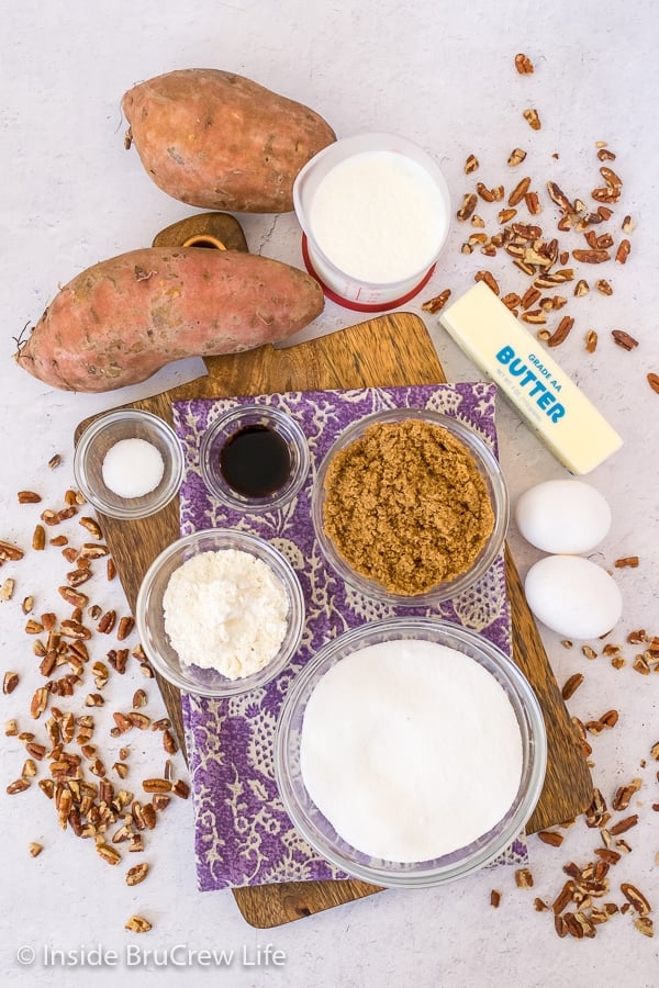
<svg viewBox="0 0 659 988">
<path fill-rule="evenodd" d="M 167 547 L 146 572 L 135 624 L 154 667 L 201 696 L 265 686 L 300 644 L 304 597 L 266 539 L 204 529 Z"/>
</svg>

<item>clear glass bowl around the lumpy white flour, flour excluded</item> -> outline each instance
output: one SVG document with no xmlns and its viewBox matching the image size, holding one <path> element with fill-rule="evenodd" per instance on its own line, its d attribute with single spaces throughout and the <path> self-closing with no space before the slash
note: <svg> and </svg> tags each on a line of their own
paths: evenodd
<svg viewBox="0 0 659 988">
<path fill-rule="evenodd" d="M 283 584 L 288 600 L 288 628 L 277 654 L 250 676 L 230 680 L 213 669 L 182 663 L 165 630 L 163 597 L 169 577 L 186 560 L 199 552 L 237 549 L 249 552 L 270 566 Z M 295 571 L 269 542 L 250 532 L 234 529 L 203 529 L 172 542 L 154 560 L 144 575 L 135 605 L 135 626 L 139 641 L 154 669 L 186 693 L 200 696 L 237 696 L 265 686 L 298 651 L 304 628 L 304 597 Z"/>
</svg>

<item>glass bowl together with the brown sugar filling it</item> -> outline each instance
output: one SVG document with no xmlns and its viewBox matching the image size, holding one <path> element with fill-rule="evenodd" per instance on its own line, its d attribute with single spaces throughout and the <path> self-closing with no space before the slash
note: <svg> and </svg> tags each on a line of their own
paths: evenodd
<svg viewBox="0 0 659 988">
<path fill-rule="evenodd" d="M 428 408 L 391 408 L 335 440 L 317 470 L 312 519 L 347 584 L 394 606 L 433 606 L 492 565 L 509 496 L 477 431 Z"/>
</svg>

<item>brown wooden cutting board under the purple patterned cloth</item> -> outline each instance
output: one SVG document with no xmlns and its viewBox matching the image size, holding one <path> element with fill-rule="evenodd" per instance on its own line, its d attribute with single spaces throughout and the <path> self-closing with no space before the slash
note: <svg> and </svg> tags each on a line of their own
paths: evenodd
<svg viewBox="0 0 659 988">
<path fill-rule="evenodd" d="M 212 357 L 206 363 L 208 378 L 135 402 L 134 407 L 171 422 L 171 402 L 177 398 L 446 381 L 423 321 L 411 313 L 378 316 L 295 347 L 261 347 L 246 353 Z M 90 420 L 78 426 L 76 438 Z M 178 498 L 158 515 L 139 521 L 101 520 L 129 604 L 134 608 L 146 569 L 179 536 Z M 591 802 L 593 784 L 507 548 L 505 563 L 513 656 L 536 691 L 548 736 L 547 776 L 528 826 L 529 832 L 535 832 L 583 812 Z M 158 683 L 185 753 L 179 692 L 160 677 Z M 376 891 L 380 889 L 373 885 L 346 880 L 238 888 L 233 895 L 247 922 L 265 929 Z"/>
</svg>

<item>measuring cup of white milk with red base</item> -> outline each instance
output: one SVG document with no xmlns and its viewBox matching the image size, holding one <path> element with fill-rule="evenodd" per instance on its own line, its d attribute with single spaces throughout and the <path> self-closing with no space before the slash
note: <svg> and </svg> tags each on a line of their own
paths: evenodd
<svg viewBox="0 0 659 988">
<path fill-rule="evenodd" d="M 444 176 L 393 134 L 331 144 L 300 171 L 293 204 L 309 272 L 360 312 L 395 308 L 429 280 L 450 227 Z"/>
</svg>

